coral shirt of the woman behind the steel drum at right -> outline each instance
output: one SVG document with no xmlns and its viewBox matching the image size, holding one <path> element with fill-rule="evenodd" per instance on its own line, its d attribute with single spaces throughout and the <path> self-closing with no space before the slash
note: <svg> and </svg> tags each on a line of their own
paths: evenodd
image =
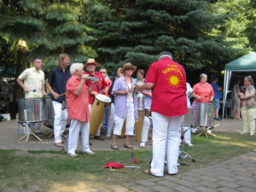
<svg viewBox="0 0 256 192">
<path fill-rule="evenodd" d="M 211 102 L 211 96 L 214 96 L 212 85 L 206 83 L 205 86 L 203 86 L 201 82 L 194 85 L 193 94 L 201 96 L 201 99 L 195 98 L 195 102 Z"/>
</svg>

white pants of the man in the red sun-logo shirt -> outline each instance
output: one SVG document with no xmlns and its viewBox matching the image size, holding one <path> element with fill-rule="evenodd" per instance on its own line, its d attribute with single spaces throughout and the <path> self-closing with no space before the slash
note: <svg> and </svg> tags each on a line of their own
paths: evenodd
<svg viewBox="0 0 256 192">
<path fill-rule="evenodd" d="M 153 160 L 151 169 L 155 176 L 164 176 L 165 158 L 169 174 L 176 174 L 179 151 L 179 126 L 183 122 L 183 115 L 166 117 L 152 112 L 153 119 Z"/>
</svg>

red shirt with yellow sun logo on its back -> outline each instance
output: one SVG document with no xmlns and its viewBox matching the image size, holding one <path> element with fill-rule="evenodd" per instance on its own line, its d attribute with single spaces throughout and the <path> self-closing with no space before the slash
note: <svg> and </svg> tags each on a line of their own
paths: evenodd
<svg viewBox="0 0 256 192">
<path fill-rule="evenodd" d="M 154 84 L 151 111 L 168 117 L 188 113 L 186 73 L 171 58 L 164 57 L 152 63 L 145 83 Z"/>
</svg>

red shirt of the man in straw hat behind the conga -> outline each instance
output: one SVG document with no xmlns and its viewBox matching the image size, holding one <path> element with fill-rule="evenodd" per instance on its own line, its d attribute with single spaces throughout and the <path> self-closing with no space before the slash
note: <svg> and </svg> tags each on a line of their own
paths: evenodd
<svg viewBox="0 0 256 192">
<path fill-rule="evenodd" d="M 95 72 L 95 74 L 92 74 L 89 72 L 85 72 L 84 74 L 89 74 L 90 76 L 93 76 L 93 77 L 96 77 L 97 79 L 99 79 L 99 81 L 94 86 L 93 91 L 96 91 L 97 93 L 102 93 L 102 90 L 104 90 L 106 87 L 108 87 L 108 83 L 106 82 L 102 73 Z M 88 87 L 90 87 L 91 81 L 87 80 L 87 81 L 85 81 L 85 84 Z M 95 99 L 95 96 L 90 94 L 89 103 L 92 104 L 94 102 L 94 99 Z"/>
</svg>

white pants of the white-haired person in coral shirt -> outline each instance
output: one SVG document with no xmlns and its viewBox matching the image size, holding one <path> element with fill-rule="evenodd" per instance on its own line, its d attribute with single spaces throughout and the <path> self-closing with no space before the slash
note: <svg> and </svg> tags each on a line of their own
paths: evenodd
<svg viewBox="0 0 256 192">
<path fill-rule="evenodd" d="M 90 126 L 89 122 L 81 122 L 76 119 L 71 119 L 69 133 L 68 133 L 68 149 L 69 154 L 75 154 L 76 149 L 78 148 L 79 143 L 79 132 L 81 130 L 82 138 L 82 151 L 89 152 L 89 131 Z"/>
</svg>

